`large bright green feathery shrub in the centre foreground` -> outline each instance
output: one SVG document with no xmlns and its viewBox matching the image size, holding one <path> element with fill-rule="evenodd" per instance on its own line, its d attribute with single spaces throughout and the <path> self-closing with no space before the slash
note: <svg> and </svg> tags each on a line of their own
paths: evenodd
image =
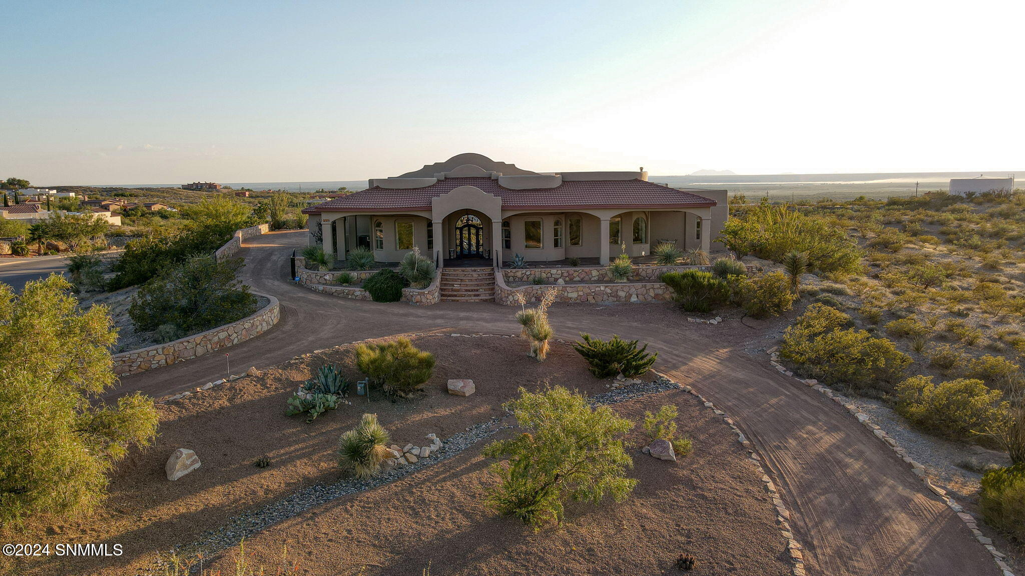
<svg viewBox="0 0 1025 576">
<path fill-rule="evenodd" d="M 584 396 L 557 386 L 520 388 L 520 398 L 502 407 L 525 431 L 484 449 L 487 457 L 508 459 L 491 467 L 499 485 L 488 503 L 498 512 L 534 527 L 562 524 L 566 501 L 621 501 L 637 486 L 626 477 L 633 461 L 621 440 L 632 424 L 608 406 L 591 408 Z"/>
</svg>

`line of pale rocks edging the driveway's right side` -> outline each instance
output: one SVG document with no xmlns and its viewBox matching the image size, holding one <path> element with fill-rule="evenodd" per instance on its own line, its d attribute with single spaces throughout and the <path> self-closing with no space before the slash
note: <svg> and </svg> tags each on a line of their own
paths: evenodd
<svg viewBox="0 0 1025 576">
<path fill-rule="evenodd" d="M 926 485 L 926 488 L 928 488 L 931 492 L 939 496 L 944 501 L 944 503 L 946 503 L 947 506 L 951 510 L 953 510 L 954 513 L 957 515 L 957 518 L 959 518 L 961 522 L 965 523 L 965 526 L 972 531 L 972 536 L 974 536 L 975 539 L 978 540 L 979 543 L 983 545 L 987 551 L 989 551 L 990 556 L 993 559 L 993 562 L 996 563 L 996 567 L 1002 571 L 1001 576 L 1015 576 L 1014 573 L 1011 571 L 1011 567 L 1008 566 L 1006 562 L 1003 562 L 1003 559 L 1007 558 L 1007 556 L 1000 553 L 1000 551 L 997 550 L 995 546 L 993 546 L 993 541 L 990 538 L 987 538 L 985 535 L 983 535 L 983 533 L 979 530 L 979 525 L 975 517 L 965 511 L 965 507 L 958 504 L 957 501 L 951 498 L 949 495 L 947 495 L 946 490 L 930 482 L 929 477 L 926 476 L 926 466 L 914 461 L 911 458 L 911 456 L 907 453 L 907 451 L 901 448 L 893 437 L 888 435 L 883 428 L 880 428 L 878 425 L 872 422 L 872 420 L 868 417 L 868 414 L 865 414 L 864 412 L 859 410 L 856 405 L 848 402 L 848 398 L 846 396 L 837 394 L 833 392 L 831 388 L 820 384 L 818 380 L 806 379 L 806 378 L 801 378 L 798 376 L 794 376 L 793 372 L 787 370 L 785 366 L 780 364 L 779 346 L 773 346 L 767 349 L 766 354 L 769 355 L 769 364 L 773 368 L 775 368 L 778 372 L 780 372 L 784 376 L 793 377 L 802 384 L 805 384 L 806 386 L 818 390 L 819 393 L 831 399 L 836 404 L 843 406 L 844 409 L 846 409 L 852 416 L 854 416 L 859 423 L 868 428 L 868 430 L 872 433 L 872 436 L 879 439 L 880 442 L 886 444 L 887 447 L 894 452 L 894 454 L 896 454 L 905 464 L 908 465 L 908 468 L 911 470 L 911 474 L 913 474 L 916 478 L 918 478 L 922 482 L 922 484 Z"/>
</svg>

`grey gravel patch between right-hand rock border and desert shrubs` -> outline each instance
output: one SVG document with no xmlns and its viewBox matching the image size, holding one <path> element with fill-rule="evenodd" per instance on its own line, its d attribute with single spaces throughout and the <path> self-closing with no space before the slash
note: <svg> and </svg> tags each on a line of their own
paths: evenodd
<svg viewBox="0 0 1025 576">
<path fill-rule="evenodd" d="M 960 465 L 971 463 L 971 467 L 978 470 L 983 470 L 990 464 L 1011 465 L 1007 454 L 1002 452 L 974 444 L 951 442 L 912 428 L 907 420 L 883 401 L 849 397 L 848 402 L 868 414 L 871 421 L 893 437 L 911 458 L 926 466 L 936 484 L 962 498 L 977 497 L 982 474 Z"/>
</svg>

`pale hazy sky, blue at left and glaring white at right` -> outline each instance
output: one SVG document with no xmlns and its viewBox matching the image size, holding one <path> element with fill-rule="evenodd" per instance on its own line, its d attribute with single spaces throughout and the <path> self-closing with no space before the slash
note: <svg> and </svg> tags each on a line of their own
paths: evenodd
<svg viewBox="0 0 1025 576">
<path fill-rule="evenodd" d="M 0 0 L 0 177 L 1025 167 L 1007 0 Z"/>
</svg>

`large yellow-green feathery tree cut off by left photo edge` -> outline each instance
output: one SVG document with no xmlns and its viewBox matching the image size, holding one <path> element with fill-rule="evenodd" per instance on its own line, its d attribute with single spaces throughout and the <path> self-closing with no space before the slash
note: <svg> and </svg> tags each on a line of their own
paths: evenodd
<svg viewBox="0 0 1025 576">
<path fill-rule="evenodd" d="M 156 435 L 151 399 L 96 403 L 117 380 L 117 332 L 105 306 L 82 311 L 70 289 L 56 275 L 20 295 L 0 284 L 0 523 L 88 511 L 113 464 Z"/>
</svg>

